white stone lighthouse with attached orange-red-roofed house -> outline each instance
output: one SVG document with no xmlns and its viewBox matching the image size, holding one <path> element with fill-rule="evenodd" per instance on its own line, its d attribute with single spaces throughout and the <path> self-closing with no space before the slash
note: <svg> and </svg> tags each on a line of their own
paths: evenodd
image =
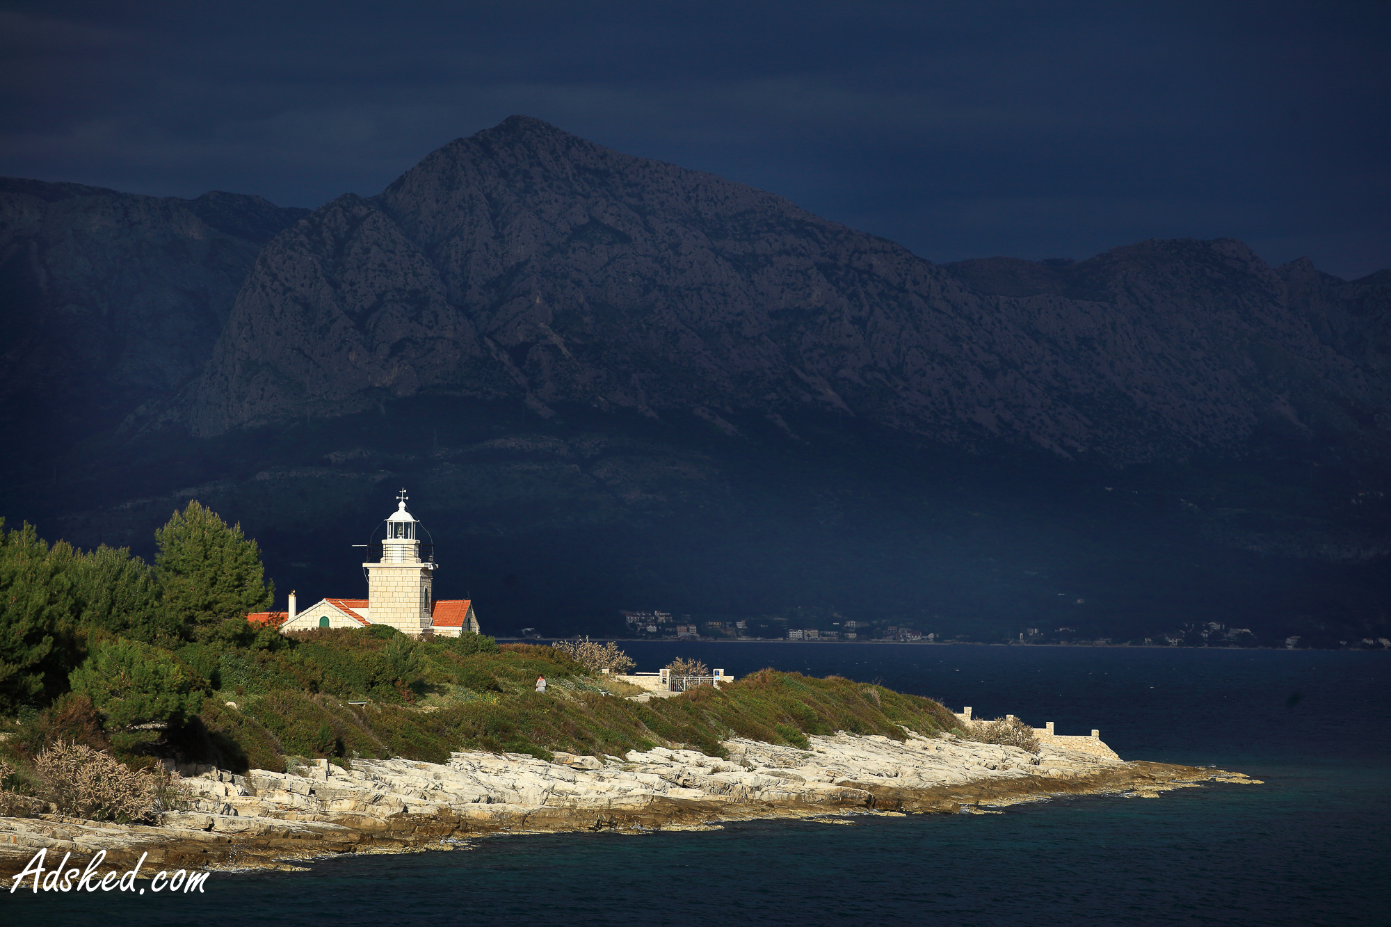
<svg viewBox="0 0 1391 927">
<path fill-rule="evenodd" d="M 246 621 L 278 626 L 281 633 L 367 625 L 391 625 L 412 637 L 481 633 L 470 600 L 434 597 L 434 551 L 431 546 L 421 548 L 419 530 L 420 522 L 406 511 L 406 490 L 401 490 L 396 511 L 387 519 L 380 560 L 373 561 L 378 551 L 367 548 L 366 599 L 320 599 L 299 611 L 291 592 L 288 611 L 260 611 Z"/>
</svg>

